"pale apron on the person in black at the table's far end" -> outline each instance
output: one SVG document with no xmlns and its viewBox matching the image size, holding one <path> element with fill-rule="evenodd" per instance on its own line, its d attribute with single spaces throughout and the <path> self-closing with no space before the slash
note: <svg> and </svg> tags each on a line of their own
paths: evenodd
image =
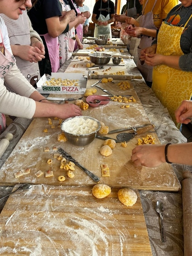
<svg viewBox="0 0 192 256">
<path fill-rule="evenodd" d="M 101 8 L 102 8 L 102 0 L 101 0 Z M 109 12 L 109 1 L 108 1 L 108 12 Z M 107 14 L 107 16 L 105 17 L 103 14 L 101 14 L 101 10 L 100 10 L 98 21 L 104 22 L 108 20 L 110 20 L 110 13 Z M 100 35 L 108 35 L 110 38 L 112 38 L 110 24 L 106 26 L 99 26 L 95 24 L 94 37 L 99 37 Z"/>
</svg>

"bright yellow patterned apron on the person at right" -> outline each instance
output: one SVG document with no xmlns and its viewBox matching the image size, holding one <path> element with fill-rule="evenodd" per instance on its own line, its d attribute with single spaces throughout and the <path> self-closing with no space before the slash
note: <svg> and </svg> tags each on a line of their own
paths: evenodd
<svg viewBox="0 0 192 256">
<path fill-rule="evenodd" d="M 180 39 L 183 30 L 192 15 L 183 27 L 170 26 L 162 23 L 158 32 L 156 53 L 163 55 L 184 55 L 180 47 Z M 153 70 L 152 90 L 167 107 L 170 116 L 176 122 L 175 111 L 183 100 L 190 100 L 192 97 L 192 72 L 170 68 L 166 65 L 158 65 Z"/>
</svg>

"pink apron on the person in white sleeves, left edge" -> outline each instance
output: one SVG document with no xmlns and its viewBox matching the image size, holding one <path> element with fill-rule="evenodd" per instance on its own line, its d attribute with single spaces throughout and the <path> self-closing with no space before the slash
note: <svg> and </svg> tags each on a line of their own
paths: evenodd
<svg viewBox="0 0 192 256">
<path fill-rule="evenodd" d="M 2 43 L 0 43 L 0 79 L 4 79 L 4 76 L 10 72 L 15 63 L 14 56 L 5 48 L 3 43 L 3 35 L 0 30 Z M 6 129 L 6 117 L 0 113 L 0 134 Z"/>
</svg>

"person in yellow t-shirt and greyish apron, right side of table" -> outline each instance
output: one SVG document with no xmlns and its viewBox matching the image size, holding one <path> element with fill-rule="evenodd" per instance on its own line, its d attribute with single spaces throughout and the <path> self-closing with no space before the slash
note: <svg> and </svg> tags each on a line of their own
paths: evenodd
<svg viewBox="0 0 192 256">
<path fill-rule="evenodd" d="M 140 37 L 138 55 L 140 56 L 143 48 L 149 47 L 157 37 L 157 31 L 168 12 L 178 4 L 178 0 L 144 0 L 142 15 L 139 19 L 139 27 L 131 25 L 125 28 L 131 37 Z M 141 58 L 139 57 L 139 60 Z M 137 67 L 141 72 L 146 84 L 152 86 L 153 67 L 138 61 Z"/>
</svg>

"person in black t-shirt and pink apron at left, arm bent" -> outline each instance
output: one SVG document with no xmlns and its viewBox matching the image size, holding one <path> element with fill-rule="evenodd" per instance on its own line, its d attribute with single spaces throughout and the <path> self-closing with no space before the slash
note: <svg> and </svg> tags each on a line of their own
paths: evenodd
<svg viewBox="0 0 192 256">
<path fill-rule="evenodd" d="M 28 15 L 45 46 L 45 58 L 39 62 L 40 75 L 51 75 L 60 68 L 58 36 L 68 31 L 69 22 L 76 18 L 75 12 L 62 13 L 59 0 L 38 0 Z"/>
</svg>

